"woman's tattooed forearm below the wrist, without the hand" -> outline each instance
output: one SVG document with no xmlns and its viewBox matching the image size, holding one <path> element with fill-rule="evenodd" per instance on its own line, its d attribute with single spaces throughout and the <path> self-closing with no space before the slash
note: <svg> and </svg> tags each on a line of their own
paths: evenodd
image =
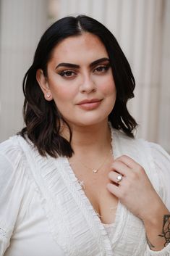
<svg viewBox="0 0 170 256">
<path fill-rule="evenodd" d="M 170 243 L 170 212 L 166 207 L 144 220 L 144 225 L 150 249 L 159 251 Z"/>
</svg>

